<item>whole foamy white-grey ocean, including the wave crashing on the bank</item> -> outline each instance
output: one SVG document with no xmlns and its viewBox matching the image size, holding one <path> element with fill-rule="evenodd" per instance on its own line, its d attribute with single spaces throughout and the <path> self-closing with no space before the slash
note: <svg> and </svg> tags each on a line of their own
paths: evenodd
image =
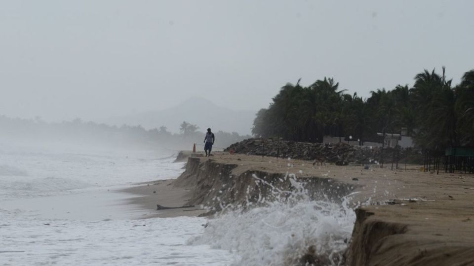
<svg viewBox="0 0 474 266">
<path fill-rule="evenodd" d="M 173 154 L 1 144 L 0 265 L 296 265 L 310 246 L 341 263 L 355 221 L 344 204 L 298 197 L 215 219 L 137 219 L 152 210 L 117 191 L 177 178 Z"/>
</svg>

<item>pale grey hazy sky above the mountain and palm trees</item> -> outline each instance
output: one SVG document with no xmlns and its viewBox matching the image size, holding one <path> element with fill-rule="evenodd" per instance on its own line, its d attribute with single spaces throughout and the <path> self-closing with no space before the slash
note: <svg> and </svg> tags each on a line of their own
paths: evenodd
<svg viewBox="0 0 474 266">
<path fill-rule="evenodd" d="M 0 114 L 100 121 L 202 96 L 258 110 L 286 82 L 368 96 L 474 68 L 474 1 L 1 0 Z"/>
</svg>

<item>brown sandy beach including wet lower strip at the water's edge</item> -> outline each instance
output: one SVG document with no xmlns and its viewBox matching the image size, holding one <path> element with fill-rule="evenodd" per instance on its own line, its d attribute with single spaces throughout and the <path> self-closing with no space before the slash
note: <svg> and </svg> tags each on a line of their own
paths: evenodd
<svg viewBox="0 0 474 266">
<path fill-rule="evenodd" d="M 226 167 L 231 175 L 219 176 Z M 343 185 L 344 193 L 351 190 L 352 202 L 359 207 L 348 251 L 350 265 L 474 264 L 474 178 L 470 174 L 422 172 L 420 166 L 407 166 L 406 170 L 379 166 L 364 169 L 240 154 L 215 153 L 210 158 L 193 154 L 178 179 L 125 191 L 142 195 L 131 202 L 150 210 L 156 209 L 156 204 L 179 207 L 204 203 L 207 196 L 203 195 L 212 197 L 212 182 L 217 179 L 220 181 L 216 184 L 222 186 L 232 178 L 252 179 L 247 174 L 256 172 L 267 176 L 294 174 L 298 179 L 333 182 L 336 191 L 342 191 Z M 206 184 L 207 191 L 200 191 L 206 178 L 214 181 Z M 219 193 L 224 199 L 224 194 L 234 193 L 232 189 Z M 192 216 L 203 211 L 188 208 L 156 212 L 150 217 Z"/>
</svg>

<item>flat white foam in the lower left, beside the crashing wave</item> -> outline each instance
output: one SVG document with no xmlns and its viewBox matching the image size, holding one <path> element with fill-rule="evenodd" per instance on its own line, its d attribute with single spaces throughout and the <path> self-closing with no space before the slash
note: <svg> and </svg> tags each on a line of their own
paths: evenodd
<svg viewBox="0 0 474 266">
<path fill-rule="evenodd" d="M 204 218 L 74 221 L 0 210 L 0 265 L 226 265 L 232 256 L 185 240 Z"/>
</svg>

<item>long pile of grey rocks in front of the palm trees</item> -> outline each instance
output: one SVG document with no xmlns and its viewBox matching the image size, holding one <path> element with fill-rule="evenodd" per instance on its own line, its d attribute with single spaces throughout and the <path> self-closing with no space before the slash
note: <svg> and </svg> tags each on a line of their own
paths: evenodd
<svg viewBox="0 0 474 266">
<path fill-rule="evenodd" d="M 336 164 L 377 164 L 382 158 L 384 163 L 392 160 L 404 162 L 407 150 L 399 151 L 393 148 L 371 146 L 352 146 L 344 142 L 339 143 L 310 143 L 264 138 L 249 138 L 229 146 L 225 151 L 234 150 L 236 153 L 247 155 L 264 155 L 279 158 L 292 158 L 313 161 L 322 158 L 326 162 Z M 398 158 L 397 158 L 398 157 Z"/>
</svg>

